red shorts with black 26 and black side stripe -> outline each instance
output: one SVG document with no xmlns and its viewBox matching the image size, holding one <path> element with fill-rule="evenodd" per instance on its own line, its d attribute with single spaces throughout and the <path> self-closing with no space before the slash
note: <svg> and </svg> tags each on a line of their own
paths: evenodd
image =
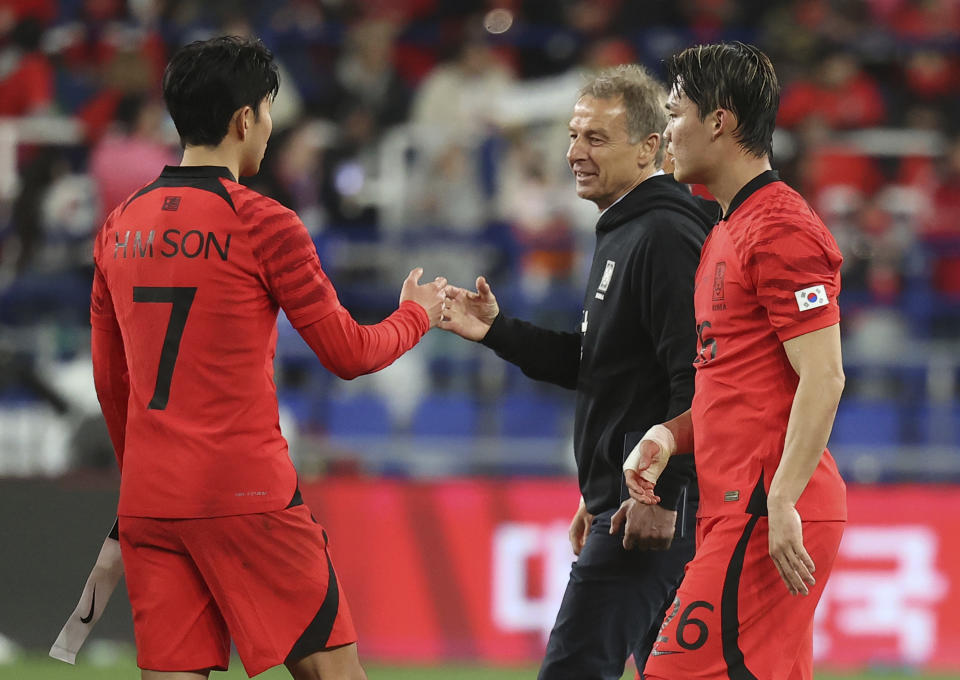
<svg viewBox="0 0 960 680">
<path fill-rule="evenodd" d="M 644 670 L 646 680 L 810 680 L 813 615 L 844 522 L 804 522 L 816 565 L 809 595 L 791 595 L 770 558 L 766 517 L 700 519 L 687 565 Z"/>
</svg>

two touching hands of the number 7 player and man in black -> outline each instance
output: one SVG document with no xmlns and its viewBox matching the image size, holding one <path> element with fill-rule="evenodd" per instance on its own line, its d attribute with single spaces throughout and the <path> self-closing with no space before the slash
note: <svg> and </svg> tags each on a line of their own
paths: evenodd
<svg viewBox="0 0 960 680">
<path fill-rule="evenodd" d="M 421 276 L 423 269 L 420 267 L 410 272 L 400 290 L 400 302 L 410 300 L 423 307 L 431 328 L 439 326 L 467 340 L 483 340 L 500 313 L 497 298 L 487 280 L 478 276 L 476 291 L 469 291 L 450 285 L 442 276 L 421 284 Z"/>
</svg>

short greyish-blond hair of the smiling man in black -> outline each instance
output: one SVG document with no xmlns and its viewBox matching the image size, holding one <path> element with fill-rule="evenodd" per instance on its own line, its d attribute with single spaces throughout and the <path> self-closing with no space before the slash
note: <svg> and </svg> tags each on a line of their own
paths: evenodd
<svg viewBox="0 0 960 680">
<path fill-rule="evenodd" d="M 623 98 L 627 110 L 627 133 L 636 144 L 648 135 L 663 133 L 667 127 L 664 108 L 667 91 L 639 64 L 623 64 L 604 69 L 580 88 L 580 96 L 596 99 Z M 657 149 L 656 166 L 663 163 L 663 144 Z"/>
</svg>

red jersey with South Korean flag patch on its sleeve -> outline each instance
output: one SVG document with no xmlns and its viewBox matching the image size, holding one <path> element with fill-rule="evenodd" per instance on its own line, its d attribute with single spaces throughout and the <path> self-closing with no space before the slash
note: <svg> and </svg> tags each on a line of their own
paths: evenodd
<svg viewBox="0 0 960 680">
<path fill-rule="evenodd" d="M 754 512 L 765 501 L 799 382 L 783 343 L 839 322 L 842 261 L 820 218 L 773 171 L 747 184 L 707 237 L 694 290 L 701 517 Z M 846 519 L 828 450 L 797 510 L 804 520 Z"/>
</svg>

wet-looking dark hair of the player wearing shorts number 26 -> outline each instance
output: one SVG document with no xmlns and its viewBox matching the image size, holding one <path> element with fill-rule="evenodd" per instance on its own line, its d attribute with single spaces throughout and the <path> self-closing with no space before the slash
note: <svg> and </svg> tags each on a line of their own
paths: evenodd
<svg viewBox="0 0 960 680">
<path fill-rule="evenodd" d="M 670 57 L 666 67 L 670 88 L 697 105 L 701 121 L 711 111 L 731 111 L 740 146 L 760 158 L 772 155 L 780 84 L 767 55 L 742 42 L 698 45 Z"/>
</svg>

